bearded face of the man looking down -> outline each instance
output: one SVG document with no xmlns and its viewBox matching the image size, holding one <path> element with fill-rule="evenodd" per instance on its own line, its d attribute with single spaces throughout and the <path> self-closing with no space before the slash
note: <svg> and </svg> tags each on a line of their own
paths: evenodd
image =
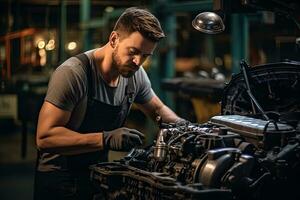
<svg viewBox="0 0 300 200">
<path fill-rule="evenodd" d="M 153 54 L 156 43 L 144 38 L 139 32 L 133 32 L 127 37 L 117 38 L 112 54 L 112 64 L 120 75 L 131 77 Z"/>
</svg>

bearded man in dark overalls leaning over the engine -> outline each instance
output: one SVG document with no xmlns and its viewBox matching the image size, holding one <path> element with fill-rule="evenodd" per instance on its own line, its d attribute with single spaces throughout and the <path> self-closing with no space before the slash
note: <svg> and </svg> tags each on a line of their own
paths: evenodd
<svg viewBox="0 0 300 200">
<path fill-rule="evenodd" d="M 88 167 L 107 161 L 108 150 L 142 144 L 142 133 L 123 127 L 133 102 L 153 119 L 183 120 L 155 95 L 141 66 L 164 37 L 151 13 L 129 8 L 106 45 L 56 69 L 37 126 L 35 199 L 92 199 Z"/>
</svg>

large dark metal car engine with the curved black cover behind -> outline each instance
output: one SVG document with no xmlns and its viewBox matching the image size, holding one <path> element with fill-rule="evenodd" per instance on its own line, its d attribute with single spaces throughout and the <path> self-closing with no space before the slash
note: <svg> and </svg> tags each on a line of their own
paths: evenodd
<svg viewBox="0 0 300 200">
<path fill-rule="evenodd" d="M 164 124 L 154 143 L 91 166 L 95 199 L 300 199 L 300 63 L 248 67 L 221 115 Z"/>
</svg>

